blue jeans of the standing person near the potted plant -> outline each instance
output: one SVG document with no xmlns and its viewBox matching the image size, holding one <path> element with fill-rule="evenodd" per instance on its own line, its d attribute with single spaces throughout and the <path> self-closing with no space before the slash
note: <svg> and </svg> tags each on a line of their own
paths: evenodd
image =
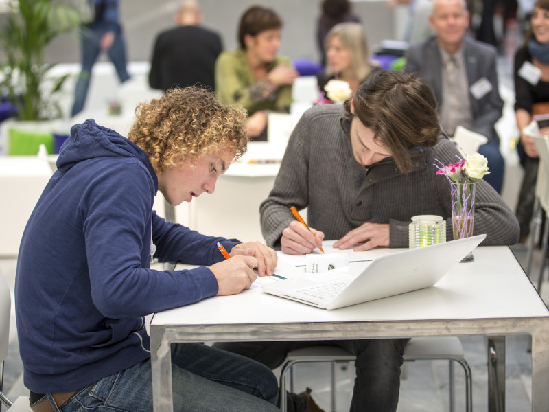
<svg viewBox="0 0 549 412">
<path fill-rule="evenodd" d="M 101 52 L 100 41 L 106 32 L 104 28 L 93 27 L 82 27 L 82 30 L 80 30 L 82 71 L 76 82 L 71 117 L 78 115 L 84 108 L 90 84 L 91 69 Z M 130 75 L 126 69 L 126 44 L 121 30 L 115 33 L 113 45 L 106 52 L 110 61 L 115 65 L 120 82 L 123 83 L 128 80 Z"/>
</svg>

